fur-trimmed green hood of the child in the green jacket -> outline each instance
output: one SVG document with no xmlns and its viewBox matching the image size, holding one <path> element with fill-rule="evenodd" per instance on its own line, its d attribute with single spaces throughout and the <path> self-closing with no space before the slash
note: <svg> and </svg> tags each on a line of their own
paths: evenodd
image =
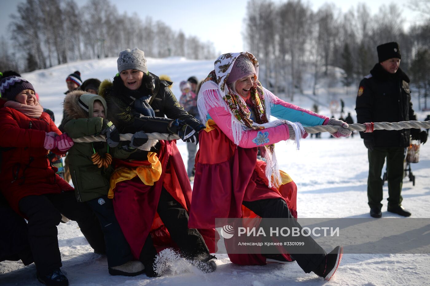
<svg viewBox="0 0 430 286">
<path fill-rule="evenodd" d="M 104 97 L 96 94 L 88 94 L 85 91 L 75 90 L 64 98 L 64 112 L 69 118 L 91 118 L 95 100 L 100 100 L 107 114 Z"/>
</svg>

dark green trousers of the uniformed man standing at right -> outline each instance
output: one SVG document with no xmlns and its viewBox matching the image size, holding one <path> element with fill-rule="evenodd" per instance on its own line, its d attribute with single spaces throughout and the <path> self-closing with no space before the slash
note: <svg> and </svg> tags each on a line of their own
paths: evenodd
<svg viewBox="0 0 430 286">
<path fill-rule="evenodd" d="M 367 179 L 367 197 L 369 207 L 382 207 L 382 167 L 387 158 L 387 181 L 388 181 L 388 207 L 396 207 L 402 204 L 403 183 L 403 161 L 405 159 L 405 148 L 381 148 L 375 147 L 373 151 L 368 150 L 369 177 Z"/>
</svg>

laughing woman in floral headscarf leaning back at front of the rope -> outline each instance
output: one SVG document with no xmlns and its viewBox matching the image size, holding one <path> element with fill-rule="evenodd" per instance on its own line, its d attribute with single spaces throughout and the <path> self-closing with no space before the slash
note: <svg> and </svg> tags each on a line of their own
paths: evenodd
<svg viewBox="0 0 430 286">
<path fill-rule="evenodd" d="M 302 125 L 341 125 L 335 137 L 351 133 L 347 123 L 287 103 L 264 88 L 258 81 L 258 61 L 248 52 L 224 54 L 215 61 L 197 105 L 206 129 L 199 134 L 196 156 L 188 224 L 193 228 L 213 228 L 215 218 L 297 218 L 297 187 L 279 170 L 274 143 L 295 140 L 299 146 L 299 140 L 307 137 Z M 270 115 L 278 120 L 270 122 Z M 257 160 L 259 146 L 265 147 L 266 162 Z M 289 221 L 301 228 L 295 219 Z M 229 253 L 229 257 L 240 265 L 295 259 L 306 273 L 313 271 L 329 280 L 338 268 L 342 247 L 326 254 L 311 237 L 304 240 L 312 254 Z M 228 252 L 227 242 L 226 247 Z"/>
</svg>

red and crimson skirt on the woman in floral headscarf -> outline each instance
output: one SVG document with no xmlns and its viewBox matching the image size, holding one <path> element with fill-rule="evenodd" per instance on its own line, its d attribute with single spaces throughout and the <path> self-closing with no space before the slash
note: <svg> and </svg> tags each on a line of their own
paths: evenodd
<svg viewBox="0 0 430 286">
<path fill-rule="evenodd" d="M 196 156 L 191 228 L 215 227 L 215 218 L 259 217 L 242 205 L 243 201 L 280 198 L 297 218 L 297 186 L 290 179 L 279 188 L 269 188 L 264 169 L 257 160 L 257 147 L 235 145 L 213 122 L 199 134 L 200 149 Z M 288 175 L 286 175 L 288 176 Z M 222 223 L 222 221 L 218 221 Z M 228 253 L 228 245 L 226 244 Z M 265 265 L 261 254 L 228 254 L 231 262 L 240 265 Z M 291 260 L 288 254 L 284 255 Z"/>
</svg>

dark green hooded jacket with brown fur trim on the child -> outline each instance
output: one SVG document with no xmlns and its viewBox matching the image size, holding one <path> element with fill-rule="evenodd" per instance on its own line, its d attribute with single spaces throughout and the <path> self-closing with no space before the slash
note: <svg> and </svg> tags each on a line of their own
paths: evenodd
<svg viewBox="0 0 430 286">
<path fill-rule="evenodd" d="M 85 94 L 80 90 L 66 95 L 64 111 L 69 119 L 65 122 L 64 131 L 71 138 L 99 134 L 104 128 L 103 118 L 92 117 L 95 100 L 100 100 L 106 110 L 105 100 L 98 95 Z M 107 114 L 107 110 L 105 112 Z M 120 146 L 126 145 L 128 142 L 122 141 Z M 120 149 L 120 146 L 109 148 L 109 153 L 115 158 L 128 158 L 130 152 Z M 113 168 L 111 166 L 98 168 L 97 165 L 94 165 L 91 160 L 94 150 L 104 157 L 104 154 L 108 152 L 107 143 L 74 143 L 69 149 L 69 168 L 77 201 L 89 201 L 101 195 L 107 195 L 109 191 L 109 178 Z"/>
</svg>

